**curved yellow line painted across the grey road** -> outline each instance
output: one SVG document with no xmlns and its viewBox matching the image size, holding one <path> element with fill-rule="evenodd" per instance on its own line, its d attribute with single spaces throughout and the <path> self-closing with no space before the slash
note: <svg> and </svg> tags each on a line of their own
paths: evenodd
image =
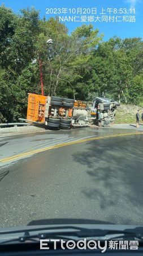
<svg viewBox="0 0 143 256">
<path fill-rule="evenodd" d="M 31 151 L 28 151 L 28 152 L 25 152 L 25 153 L 22 153 L 22 154 L 19 154 L 19 155 L 13 155 L 13 156 L 10 156 L 10 157 L 7 157 L 7 158 L 0 159 L 0 162 L 1 163 L 5 163 L 5 162 L 11 161 L 11 160 L 16 160 L 18 158 L 23 158 L 24 156 L 33 155 L 33 154 L 36 154 L 38 152 L 52 150 L 54 148 L 69 146 L 69 145 L 72 145 L 72 144 L 88 142 L 88 141 L 96 141 L 98 139 L 107 139 L 107 138 L 114 138 L 114 137 L 124 137 L 124 136 L 129 136 L 129 135 L 138 135 L 138 134 L 143 134 L 143 133 L 142 132 L 123 133 L 123 134 L 114 134 L 114 135 L 107 135 L 107 136 L 101 136 L 101 137 L 92 137 L 92 138 L 87 138 L 87 139 L 80 139 L 79 141 L 66 142 L 66 143 L 57 144 L 57 145 L 50 146 L 50 147 L 39 148 L 37 150 L 31 150 Z"/>
</svg>

